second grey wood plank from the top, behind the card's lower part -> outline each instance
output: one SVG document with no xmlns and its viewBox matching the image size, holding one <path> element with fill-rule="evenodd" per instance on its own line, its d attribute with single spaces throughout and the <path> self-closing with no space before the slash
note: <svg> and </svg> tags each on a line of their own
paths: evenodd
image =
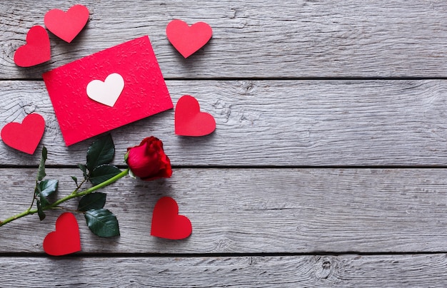
<svg viewBox="0 0 447 288">
<path fill-rule="evenodd" d="M 446 165 L 447 81 L 167 81 L 216 118 L 206 137 L 174 134 L 174 110 L 112 132 L 116 164 L 149 135 L 174 165 Z M 93 140 L 66 148 L 41 81 L 0 81 L 3 126 L 35 111 L 51 165 L 84 163 Z M 39 147 L 39 150 L 41 147 Z M 39 151 L 38 150 L 38 151 Z M 36 165 L 0 145 L 1 165 Z"/>
</svg>

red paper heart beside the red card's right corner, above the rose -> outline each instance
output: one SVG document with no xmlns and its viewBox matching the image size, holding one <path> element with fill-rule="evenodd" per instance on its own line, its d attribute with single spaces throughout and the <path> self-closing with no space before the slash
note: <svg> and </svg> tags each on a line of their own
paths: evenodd
<svg viewBox="0 0 447 288">
<path fill-rule="evenodd" d="M 209 113 L 200 112 L 199 102 L 193 96 L 182 96 L 174 113 L 175 131 L 182 136 L 204 136 L 216 129 L 216 120 Z"/>
</svg>

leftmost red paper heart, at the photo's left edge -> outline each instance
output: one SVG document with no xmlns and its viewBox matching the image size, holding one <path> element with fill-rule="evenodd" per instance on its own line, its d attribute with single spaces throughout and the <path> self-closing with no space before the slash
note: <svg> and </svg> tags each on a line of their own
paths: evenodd
<svg viewBox="0 0 447 288">
<path fill-rule="evenodd" d="M 22 123 L 11 122 L 1 129 L 1 139 L 11 148 L 34 154 L 44 135 L 45 120 L 37 114 L 26 115 Z"/>
</svg>

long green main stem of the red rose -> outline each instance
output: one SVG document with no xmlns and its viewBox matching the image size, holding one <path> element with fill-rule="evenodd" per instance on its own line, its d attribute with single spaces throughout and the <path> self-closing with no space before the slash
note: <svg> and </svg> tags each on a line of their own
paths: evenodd
<svg viewBox="0 0 447 288">
<path fill-rule="evenodd" d="M 87 194 L 90 194 L 91 192 L 94 192 L 94 191 L 96 191 L 96 190 L 99 190 L 99 189 L 101 189 L 102 187 L 106 187 L 107 185 L 110 185 L 111 183 L 115 182 L 116 180 L 119 180 L 119 179 L 123 178 L 124 176 L 126 176 L 126 175 L 128 175 L 128 174 L 129 174 L 129 168 L 127 168 L 126 170 L 122 171 L 122 172 L 119 173 L 118 175 L 115 175 L 114 177 L 110 178 L 109 180 L 106 180 L 106 181 L 104 181 L 104 182 L 102 182 L 102 183 L 99 183 L 98 185 L 95 185 L 95 186 L 93 186 L 93 187 L 90 187 L 90 188 L 87 189 L 87 190 L 84 190 L 84 191 L 79 192 L 79 193 L 71 193 L 70 195 L 67 195 L 67 196 L 64 197 L 64 198 L 61 198 L 61 199 L 57 200 L 56 202 L 51 203 L 50 205 L 46 205 L 45 207 L 42 207 L 42 210 L 53 209 L 53 208 L 57 207 L 58 205 L 60 205 L 61 203 L 66 202 L 66 201 L 68 201 L 68 200 L 70 200 L 70 199 L 73 199 L 73 198 L 76 198 L 76 197 L 81 197 L 81 196 L 85 196 L 85 195 L 87 195 Z M 75 190 L 75 191 L 76 191 L 76 190 Z M 24 217 L 24 216 L 27 216 L 27 215 L 33 215 L 33 214 L 36 214 L 36 213 L 37 213 L 37 209 L 33 209 L 33 210 L 28 209 L 28 210 L 25 210 L 24 212 L 21 212 L 21 213 L 19 213 L 19 214 L 17 214 L 17 215 L 11 216 L 11 217 L 6 218 L 5 220 L 1 221 L 1 222 L 0 222 L 0 227 L 3 226 L 3 225 L 5 225 L 6 223 L 9 223 L 9 222 L 11 222 L 11 221 L 17 220 L 17 219 L 19 219 L 19 218 L 21 218 L 21 217 Z"/>
</svg>

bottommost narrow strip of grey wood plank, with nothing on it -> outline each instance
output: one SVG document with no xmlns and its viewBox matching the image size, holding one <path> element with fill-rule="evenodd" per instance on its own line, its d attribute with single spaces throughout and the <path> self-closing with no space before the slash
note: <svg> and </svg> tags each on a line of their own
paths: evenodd
<svg viewBox="0 0 447 288">
<path fill-rule="evenodd" d="M 446 254 L 0 260 L 7 287 L 445 287 L 447 281 Z"/>
</svg>

